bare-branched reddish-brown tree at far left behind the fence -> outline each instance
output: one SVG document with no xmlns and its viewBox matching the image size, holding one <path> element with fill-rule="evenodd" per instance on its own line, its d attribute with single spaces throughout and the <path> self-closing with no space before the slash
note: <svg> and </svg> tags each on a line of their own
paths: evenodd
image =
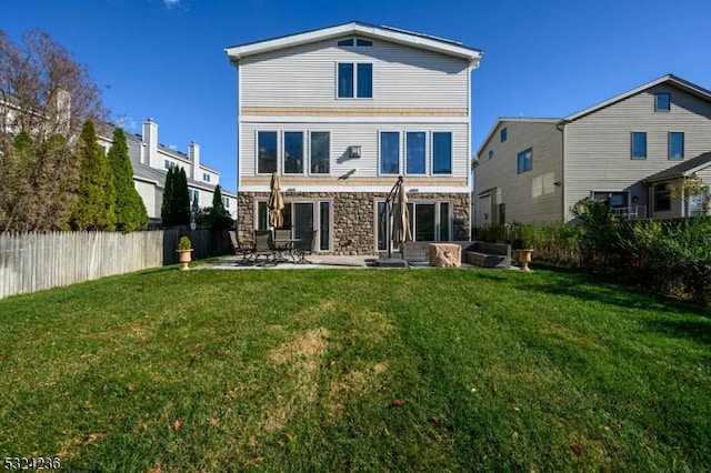
<svg viewBox="0 0 711 473">
<path fill-rule="evenodd" d="M 86 120 L 107 117 L 87 67 L 48 33 L 28 31 L 16 44 L 0 30 L 0 231 L 66 228 L 78 137 Z M 17 149 L 22 131 L 31 145 Z"/>
</svg>

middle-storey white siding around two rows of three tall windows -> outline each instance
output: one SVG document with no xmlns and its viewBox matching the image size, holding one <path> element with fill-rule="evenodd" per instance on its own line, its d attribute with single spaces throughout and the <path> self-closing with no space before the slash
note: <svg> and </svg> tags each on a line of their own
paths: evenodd
<svg viewBox="0 0 711 473">
<path fill-rule="evenodd" d="M 463 123 L 392 123 L 385 120 L 373 120 L 369 123 L 242 123 L 240 147 L 240 175 L 256 175 L 257 131 L 277 131 L 278 167 L 283 172 L 283 132 L 304 132 L 304 168 L 309 174 L 309 132 L 328 131 L 331 133 L 331 172 L 330 175 L 343 175 L 356 169 L 358 177 L 379 175 L 379 142 L 380 131 L 400 132 L 400 171 L 404 175 L 404 133 L 407 131 L 427 132 L 425 159 L 428 171 L 431 169 L 431 140 L 435 131 L 452 132 L 452 177 L 465 178 L 469 174 L 469 124 Z M 350 145 L 361 147 L 361 158 L 352 159 L 348 155 Z M 428 172 L 429 173 L 429 172 Z M 289 175 L 289 174 L 287 174 Z M 313 175 L 313 174 L 312 174 Z M 421 174 L 418 174 L 421 175 Z M 445 177 L 450 174 L 435 174 Z"/>
</svg>

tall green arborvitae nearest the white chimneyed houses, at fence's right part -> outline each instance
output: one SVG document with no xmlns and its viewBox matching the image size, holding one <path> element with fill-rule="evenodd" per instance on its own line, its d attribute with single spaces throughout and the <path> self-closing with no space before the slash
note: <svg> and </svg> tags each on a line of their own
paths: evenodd
<svg viewBox="0 0 711 473">
<path fill-rule="evenodd" d="M 133 184 L 133 168 L 129 158 L 126 133 L 120 128 L 113 130 L 113 144 L 107 155 L 113 185 L 116 188 L 117 230 L 132 232 L 148 225 L 148 212 L 143 199 Z"/>
</svg>

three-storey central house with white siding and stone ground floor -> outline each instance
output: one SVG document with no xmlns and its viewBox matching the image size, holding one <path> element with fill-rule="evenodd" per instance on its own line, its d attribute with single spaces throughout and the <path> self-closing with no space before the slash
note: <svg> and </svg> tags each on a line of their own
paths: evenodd
<svg viewBox="0 0 711 473">
<path fill-rule="evenodd" d="M 238 69 L 238 228 L 267 228 L 272 172 L 284 227 L 316 249 L 384 250 L 403 175 L 415 240 L 470 231 L 471 72 L 459 42 L 350 22 L 226 49 Z"/>
</svg>

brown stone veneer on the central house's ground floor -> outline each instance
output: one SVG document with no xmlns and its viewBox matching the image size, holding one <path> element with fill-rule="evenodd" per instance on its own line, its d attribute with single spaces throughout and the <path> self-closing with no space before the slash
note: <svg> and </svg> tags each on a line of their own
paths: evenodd
<svg viewBox="0 0 711 473">
<path fill-rule="evenodd" d="M 330 200 L 332 202 L 332 251 L 328 254 L 377 254 L 374 228 L 375 200 L 385 200 L 385 192 L 291 192 L 284 193 L 284 202 L 292 200 Z M 268 200 L 269 192 L 238 193 L 238 232 L 249 239 L 254 229 L 254 200 Z M 469 240 L 471 195 L 463 193 L 408 194 L 411 202 L 449 200 L 452 212 L 452 240 Z M 326 253 L 324 253 L 326 254 Z"/>
</svg>

